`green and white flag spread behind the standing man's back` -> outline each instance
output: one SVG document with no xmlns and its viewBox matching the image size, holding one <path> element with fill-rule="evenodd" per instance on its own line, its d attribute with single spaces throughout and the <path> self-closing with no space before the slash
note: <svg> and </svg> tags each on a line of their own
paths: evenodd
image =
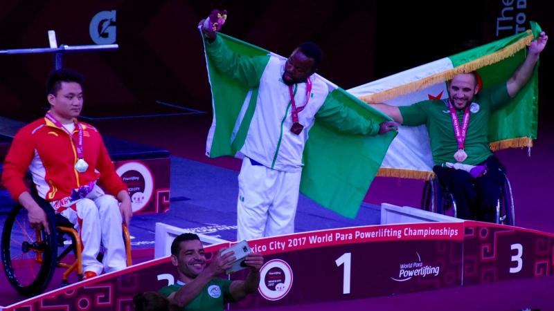
<svg viewBox="0 0 554 311">
<path fill-rule="evenodd" d="M 233 37 L 221 33 L 218 36 L 224 40 L 226 46 L 240 55 L 271 54 Z M 211 158 L 240 156 L 237 153 L 246 140 L 256 109 L 258 88 L 249 88 L 220 73 L 212 66 L 207 55 L 206 64 L 213 106 L 213 122 L 206 141 L 206 155 Z M 325 79 L 323 81 L 328 85 L 328 96 L 334 97 L 350 109 L 377 123 L 390 120 L 331 82 Z M 377 136 L 346 135 L 320 124 L 316 117 L 303 153 L 301 192 L 323 207 L 354 218 L 394 135 L 395 133 Z"/>
</svg>

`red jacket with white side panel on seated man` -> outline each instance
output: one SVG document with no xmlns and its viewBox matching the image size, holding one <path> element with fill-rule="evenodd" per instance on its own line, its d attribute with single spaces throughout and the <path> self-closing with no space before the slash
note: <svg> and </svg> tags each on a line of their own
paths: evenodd
<svg viewBox="0 0 554 311">
<path fill-rule="evenodd" d="M 28 191 L 24 176 L 28 170 L 33 175 L 39 196 L 47 201 L 60 200 L 71 195 L 71 189 L 98 180 L 100 187 L 116 196 L 127 190 L 114 169 L 114 164 L 102 140 L 93 126 L 82 123 L 84 160 L 87 171 L 75 170 L 77 151 L 69 134 L 55 126 L 46 117 L 21 128 L 8 151 L 3 165 L 2 184 L 14 198 Z M 78 131 L 73 131 L 75 141 Z"/>
</svg>

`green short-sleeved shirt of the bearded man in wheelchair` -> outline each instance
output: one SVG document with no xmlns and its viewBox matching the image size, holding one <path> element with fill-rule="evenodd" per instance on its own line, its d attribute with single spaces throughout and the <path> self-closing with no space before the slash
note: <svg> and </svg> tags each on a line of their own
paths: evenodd
<svg viewBox="0 0 554 311">
<path fill-rule="evenodd" d="M 490 115 L 492 111 L 507 104 L 508 100 L 510 95 L 506 84 L 485 89 L 474 97 L 464 143 L 464 150 L 467 153 L 464 164 L 479 164 L 492 154 L 488 139 Z M 447 100 L 424 100 L 410 106 L 400 106 L 399 109 L 404 125 L 425 124 L 427 126 L 435 165 L 456 162 L 454 153 L 458 151 L 458 142 L 454 135 Z M 464 111 L 456 111 L 456 113 L 461 126 Z"/>
</svg>

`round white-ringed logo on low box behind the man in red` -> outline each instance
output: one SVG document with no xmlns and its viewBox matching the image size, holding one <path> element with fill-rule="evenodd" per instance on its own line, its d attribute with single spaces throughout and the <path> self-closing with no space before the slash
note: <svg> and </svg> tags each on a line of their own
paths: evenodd
<svg viewBox="0 0 554 311">
<path fill-rule="evenodd" d="M 140 211 L 152 199 L 154 178 L 148 167 L 140 162 L 127 162 L 116 170 L 129 189 L 133 212 Z"/>
</svg>

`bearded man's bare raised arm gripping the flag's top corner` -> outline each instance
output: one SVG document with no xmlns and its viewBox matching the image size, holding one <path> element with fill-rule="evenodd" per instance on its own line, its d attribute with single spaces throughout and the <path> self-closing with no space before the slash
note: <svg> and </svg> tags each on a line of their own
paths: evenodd
<svg viewBox="0 0 554 311">
<path fill-rule="evenodd" d="M 537 61 L 539 60 L 539 55 L 546 46 L 547 40 L 548 36 L 543 31 L 537 39 L 533 40 L 529 44 L 528 54 L 524 63 L 521 64 L 517 70 L 515 70 L 514 75 L 508 79 L 508 82 L 506 82 L 506 88 L 508 89 L 510 97 L 515 97 L 517 92 L 519 92 L 519 90 L 521 90 L 521 88 L 528 82 L 529 78 L 533 74 L 535 64 L 537 64 Z"/>
</svg>

